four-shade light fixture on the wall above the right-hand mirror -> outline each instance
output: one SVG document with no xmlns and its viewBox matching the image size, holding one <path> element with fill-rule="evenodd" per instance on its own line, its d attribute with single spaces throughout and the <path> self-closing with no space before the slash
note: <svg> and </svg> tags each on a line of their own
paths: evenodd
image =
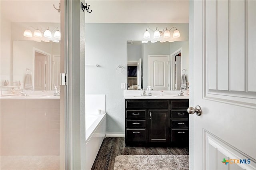
<svg viewBox="0 0 256 170">
<path fill-rule="evenodd" d="M 170 30 L 172 30 L 173 28 L 175 28 L 176 30 L 174 30 L 173 34 L 172 34 L 172 38 L 179 38 L 180 37 L 180 32 L 176 27 L 172 27 L 171 29 L 167 29 L 167 27 L 164 28 L 163 31 L 159 31 L 158 27 L 156 27 L 156 30 L 153 31 L 150 28 L 146 28 L 146 31 L 144 32 L 144 39 L 149 39 L 150 38 L 150 32 L 148 31 L 151 30 L 152 32 L 154 32 L 153 37 L 154 38 L 160 38 L 161 36 L 163 36 L 163 38 L 169 38 L 171 36 L 170 34 Z"/>
</svg>

